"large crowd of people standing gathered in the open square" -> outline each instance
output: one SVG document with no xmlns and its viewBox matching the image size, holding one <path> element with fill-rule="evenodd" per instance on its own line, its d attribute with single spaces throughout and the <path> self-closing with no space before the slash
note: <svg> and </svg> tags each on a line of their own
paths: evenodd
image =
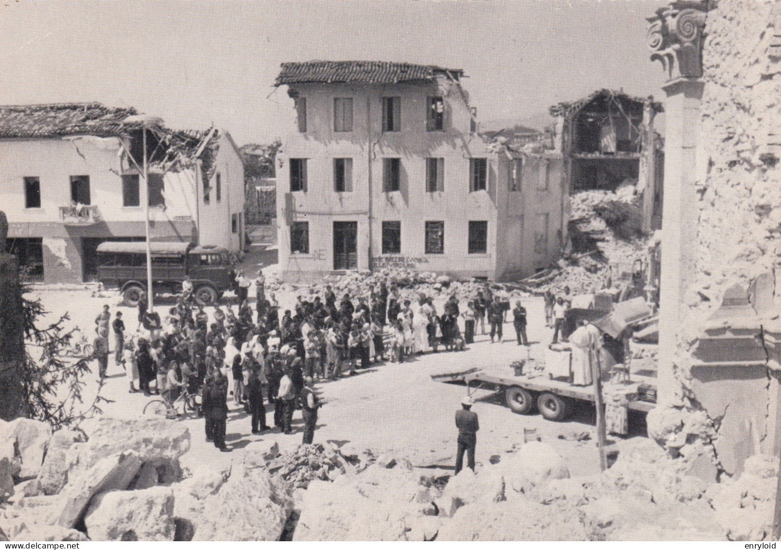
<svg viewBox="0 0 781 550">
<path fill-rule="evenodd" d="M 241 279 L 241 280 L 239 280 Z M 112 322 L 105 305 L 95 320 L 93 358 L 105 377 L 109 365 L 109 327 L 114 358 L 130 380 L 130 392 L 153 392 L 175 402 L 186 389 L 201 395 L 205 435 L 216 447 L 225 444 L 228 402 L 251 414 L 253 434 L 268 430 L 266 403 L 273 406 L 274 426 L 292 433 L 294 411 L 305 420 L 304 442 L 312 442 L 319 400 L 312 384 L 349 376 L 372 363 L 402 362 L 415 355 L 457 351 L 474 342 L 478 331 L 502 341 L 502 325 L 511 309 L 506 295 L 494 295 L 488 285 L 462 307 L 453 294 L 437 311 L 433 299 L 420 294 L 402 299 L 394 284 L 377 284 L 366 296 L 344 292 L 337 298 L 326 286 L 322 295 L 309 288 L 294 309 L 280 317 L 273 292 L 266 295 L 262 275 L 251 281 L 239 273 L 239 305 L 217 305 L 210 317 L 194 302 L 191 285 L 183 285 L 177 305 L 164 317 L 148 312 L 145 295 L 138 303 L 138 326 L 127 330 L 122 312 Z M 519 345 L 528 345 L 526 309 L 512 309 Z M 462 328 L 463 327 L 463 330 Z"/>
</svg>

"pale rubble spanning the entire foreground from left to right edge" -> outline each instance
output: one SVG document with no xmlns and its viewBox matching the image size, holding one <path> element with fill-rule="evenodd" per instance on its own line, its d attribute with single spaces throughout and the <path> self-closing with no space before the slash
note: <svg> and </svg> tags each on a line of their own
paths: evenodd
<svg viewBox="0 0 781 550">
<path fill-rule="evenodd" d="M 86 440 L 23 420 L 0 438 L 12 541 L 761 540 L 777 470 L 754 456 L 740 478 L 708 484 L 645 438 L 581 478 L 537 441 L 450 477 L 352 443 L 280 455 L 271 439 L 223 471 L 183 471 L 190 433 L 169 420 L 102 418 Z"/>
</svg>

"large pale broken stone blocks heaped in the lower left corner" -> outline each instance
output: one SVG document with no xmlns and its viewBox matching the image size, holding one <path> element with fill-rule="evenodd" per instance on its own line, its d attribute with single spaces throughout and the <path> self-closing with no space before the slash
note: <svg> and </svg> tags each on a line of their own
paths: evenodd
<svg viewBox="0 0 781 550">
<path fill-rule="evenodd" d="M 291 485 L 266 467 L 279 455 L 273 441 L 248 445 L 224 472 L 185 472 L 190 432 L 175 421 L 102 418 L 86 441 L 67 431 L 44 438 L 48 426 L 34 420 L 0 429 L 16 438 L 16 455 L 0 460 L 13 476 L 10 491 L 0 480 L 11 493 L 0 533 L 12 541 L 276 541 L 292 512 Z M 41 439 L 45 458 L 30 477 L 26 451 Z"/>
</svg>

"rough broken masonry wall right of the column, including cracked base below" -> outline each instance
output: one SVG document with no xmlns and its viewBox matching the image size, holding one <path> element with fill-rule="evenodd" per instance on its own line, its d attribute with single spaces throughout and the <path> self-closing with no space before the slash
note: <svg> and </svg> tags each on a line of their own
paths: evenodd
<svg viewBox="0 0 781 550">
<path fill-rule="evenodd" d="M 763 320 L 751 305 L 734 304 L 746 300 L 754 280 L 774 273 L 781 255 L 781 140 L 775 135 L 781 133 L 781 62 L 772 55 L 781 35 L 781 2 L 720 0 L 710 7 L 694 167 L 697 203 L 685 207 L 680 220 L 682 234 L 694 241 L 681 258 L 675 368 L 687 397 L 683 405 L 708 414 L 715 461 L 733 475 L 748 456 L 772 451 L 767 443 L 775 441 L 768 426 L 775 423 L 777 382 L 765 353 L 749 357 L 734 343 L 756 335 L 759 349 L 767 348 L 760 335 L 773 315 Z M 662 273 L 662 284 L 664 278 Z M 775 300 L 779 308 L 773 286 L 767 296 L 770 307 Z M 717 342 L 725 335 L 729 340 Z M 693 357 L 708 339 L 708 345 L 724 347 L 722 356 Z M 734 359 L 746 364 L 725 364 Z"/>
</svg>

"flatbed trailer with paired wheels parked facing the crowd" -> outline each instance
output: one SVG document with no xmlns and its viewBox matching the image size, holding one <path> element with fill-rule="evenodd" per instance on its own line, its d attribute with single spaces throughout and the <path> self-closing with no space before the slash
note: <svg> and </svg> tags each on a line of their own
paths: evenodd
<svg viewBox="0 0 781 550">
<path fill-rule="evenodd" d="M 514 413 L 532 414 L 539 410 L 547 420 L 565 420 L 572 413 L 573 401 L 594 402 L 593 386 L 574 386 L 568 380 L 526 374 L 505 376 L 473 367 L 457 373 L 432 374 L 431 378 L 440 382 L 461 382 L 471 389 L 490 389 L 505 391 L 505 401 Z M 622 391 L 628 395 L 639 394 L 640 379 L 631 384 L 622 384 Z M 627 408 L 637 413 L 648 413 L 656 406 L 655 402 L 630 399 Z"/>
</svg>

